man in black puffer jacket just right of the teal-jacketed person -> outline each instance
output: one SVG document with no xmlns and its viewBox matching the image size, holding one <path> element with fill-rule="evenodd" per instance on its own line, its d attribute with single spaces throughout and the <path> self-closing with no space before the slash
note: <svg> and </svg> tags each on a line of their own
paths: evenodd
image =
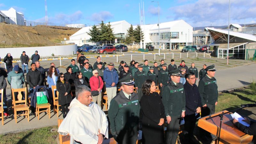
<svg viewBox="0 0 256 144">
<path fill-rule="evenodd" d="M 26 79 L 29 84 L 29 92 L 33 93 L 35 87 L 41 85 L 44 79 L 40 71 L 36 69 L 35 63 L 31 63 L 30 67 Z"/>
</svg>

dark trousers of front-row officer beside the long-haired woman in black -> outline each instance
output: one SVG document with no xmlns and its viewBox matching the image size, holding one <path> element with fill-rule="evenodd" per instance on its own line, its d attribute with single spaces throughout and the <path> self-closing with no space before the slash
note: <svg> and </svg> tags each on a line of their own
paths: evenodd
<svg viewBox="0 0 256 144">
<path fill-rule="evenodd" d="M 171 122 L 167 125 L 165 143 L 175 144 L 177 141 L 178 133 L 180 130 L 180 117 L 181 116 L 171 116 Z"/>
</svg>

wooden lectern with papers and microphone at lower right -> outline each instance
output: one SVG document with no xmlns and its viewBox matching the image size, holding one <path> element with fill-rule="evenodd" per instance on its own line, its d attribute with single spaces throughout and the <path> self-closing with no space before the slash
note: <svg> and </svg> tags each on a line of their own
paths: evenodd
<svg viewBox="0 0 256 144">
<path fill-rule="evenodd" d="M 223 111 L 228 112 L 227 110 Z M 212 114 L 211 116 L 216 116 L 221 114 L 222 112 L 218 112 L 215 114 Z M 230 113 L 232 114 L 232 113 Z M 234 125 L 234 127 L 229 126 L 228 124 L 225 124 L 226 122 L 233 120 L 233 118 L 230 116 L 230 114 L 225 114 L 223 116 L 223 121 L 222 121 L 222 125 L 221 125 L 221 131 L 220 131 L 220 143 L 223 144 L 247 144 L 249 142 L 252 141 L 252 137 L 248 134 L 245 134 L 244 132 L 241 132 L 240 130 L 238 130 Z M 211 118 L 209 120 L 206 120 L 206 118 L 209 116 L 205 116 L 202 117 L 201 119 L 198 120 L 198 126 L 216 136 L 218 136 L 218 132 L 219 132 L 219 127 L 220 127 L 220 117 L 214 117 Z M 229 124 L 232 124 L 231 122 L 229 122 Z M 215 140 L 215 143 L 217 143 L 217 140 Z"/>
</svg>

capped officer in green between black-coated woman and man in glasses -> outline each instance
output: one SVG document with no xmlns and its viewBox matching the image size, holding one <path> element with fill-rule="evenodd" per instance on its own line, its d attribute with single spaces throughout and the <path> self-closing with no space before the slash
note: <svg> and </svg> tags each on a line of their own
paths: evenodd
<svg viewBox="0 0 256 144">
<path fill-rule="evenodd" d="M 180 118 L 185 116 L 186 96 L 183 85 L 180 83 L 180 69 L 170 71 L 171 81 L 163 89 L 163 104 L 167 120 L 166 144 L 175 144 L 179 128 Z"/>
</svg>

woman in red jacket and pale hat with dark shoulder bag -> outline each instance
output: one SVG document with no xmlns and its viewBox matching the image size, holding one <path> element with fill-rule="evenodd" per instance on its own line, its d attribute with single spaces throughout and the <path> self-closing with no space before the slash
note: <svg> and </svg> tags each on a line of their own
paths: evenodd
<svg viewBox="0 0 256 144">
<path fill-rule="evenodd" d="M 93 76 L 90 78 L 90 86 L 91 86 L 91 91 L 92 91 L 92 102 L 96 103 L 98 106 L 101 108 L 101 92 L 103 88 L 103 81 L 102 78 L 99 75 L 98 70 L 93 70 L 92 71 Z M 94 91 L 94 92 L 93 92 Z M 98 91 L 95 92 L 95 91 Z M 94 93 L 97 93 L 98 95 L 94 95 Z"/>
</svg>

